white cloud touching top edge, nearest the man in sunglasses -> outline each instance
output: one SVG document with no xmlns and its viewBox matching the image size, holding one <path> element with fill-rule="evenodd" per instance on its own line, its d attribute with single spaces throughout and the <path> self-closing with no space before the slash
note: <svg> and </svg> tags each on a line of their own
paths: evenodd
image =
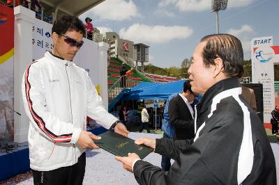
<svg viewBox="0 0 279 185">
<path fill-rule="evenodd" d="M 100 19 L 115 21 L 122 21 L 140 16 L 137 6 L 135 6 L 132 0 L 106 0 L 90 11 L 92 11 L 94 15 L 100 16 Z"/>
</svg>

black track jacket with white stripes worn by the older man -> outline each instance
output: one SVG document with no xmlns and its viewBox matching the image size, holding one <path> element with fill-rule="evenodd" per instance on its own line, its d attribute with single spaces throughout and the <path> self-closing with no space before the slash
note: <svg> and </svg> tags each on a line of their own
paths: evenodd
<svg viewBox="0 0 279 185">
<path fill-rule="evenodd" d="M 139 184 L 276 184 L 276 163 L 261 121 L 241 96 L 238 79 L 219 81 L 196 106 L 193 140 L 156 139 L 169 172 L 146 161 L 133 168 Z"/>
</svg>

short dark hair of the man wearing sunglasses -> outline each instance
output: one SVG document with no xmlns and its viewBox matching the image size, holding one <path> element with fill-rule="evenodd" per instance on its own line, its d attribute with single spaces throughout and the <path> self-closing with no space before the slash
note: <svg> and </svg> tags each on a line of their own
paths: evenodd
<svg viewBox="0 0 279 185">
<path fill-rule="evenodd" d="M 74 16 L 64 15 L 56 19 L 52 26 L 52 33 L 65 34 L 67 31 L 77 31 L 85 35 L 85 29 L 82 21 Z"/>
</svg>

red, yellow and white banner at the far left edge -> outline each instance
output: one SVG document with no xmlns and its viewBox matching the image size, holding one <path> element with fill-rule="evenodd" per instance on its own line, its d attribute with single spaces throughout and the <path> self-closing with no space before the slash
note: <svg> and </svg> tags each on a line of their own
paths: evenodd
<svg viewBox="0 0 279 185">
<path fill-rule="evenodd" d="M 14 15 L 13 8 L 0 4 L 0 140 L 12 139 L 13 118 L 13 65 Z"/>
</svg>

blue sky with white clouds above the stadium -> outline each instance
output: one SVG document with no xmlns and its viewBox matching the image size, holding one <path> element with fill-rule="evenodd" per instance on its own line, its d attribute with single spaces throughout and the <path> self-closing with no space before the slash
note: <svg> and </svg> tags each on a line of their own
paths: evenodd
<svg viewBox="0 0 279 185">
<path fill-rule="evenodd" d="M 149 63 L 180 67 L 205 35 L 216 33 L 211 0 L 105 0 L 80 15 L 93 19 L 100 33 L 114 31 L 134 44 L 149 45 Z M 279 0 L 228 0 L 219 11 L 220 33 L 241 40 L 250 59 L 252 38 L 273 36 L 279 45 Z"/>
</svg>

